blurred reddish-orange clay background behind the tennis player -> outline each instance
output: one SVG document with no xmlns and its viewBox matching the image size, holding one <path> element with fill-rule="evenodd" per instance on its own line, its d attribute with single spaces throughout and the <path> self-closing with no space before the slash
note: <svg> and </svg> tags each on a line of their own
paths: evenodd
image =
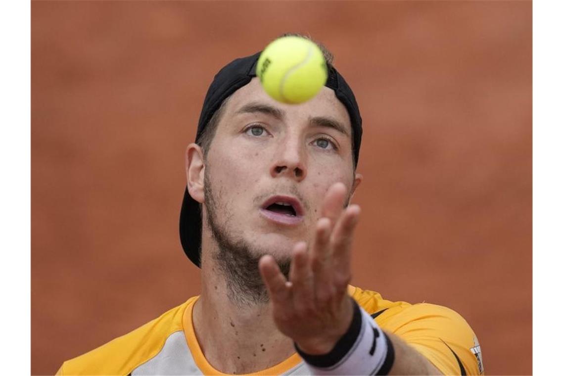
<svg viewBox="0 0 564 376">
<path fill-rule="evenodd" d="M 532 373 L 532 5 L 32 2 L 32 373 L 199 293 L 178 215 L 214 74 L 318 39 L 364 120 L 353 284 L 455 309 Z"/>
</svg>

